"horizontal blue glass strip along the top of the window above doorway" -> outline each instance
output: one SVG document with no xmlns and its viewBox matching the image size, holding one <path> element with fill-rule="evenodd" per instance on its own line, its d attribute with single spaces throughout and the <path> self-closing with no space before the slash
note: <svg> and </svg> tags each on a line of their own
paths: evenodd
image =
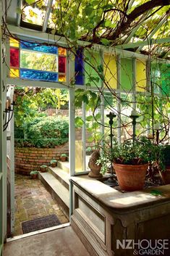
<svg viewBox="0 0 170 256">
<path fill-rule="evenodd" d="M 58 47 L 56 46 L 43 46 L 37 43 L 21 41 L 20 47 L 21 49 L 27 49 L 32 51 L 43 51 L 49 54 L 58 54 Z"/>
</svg>

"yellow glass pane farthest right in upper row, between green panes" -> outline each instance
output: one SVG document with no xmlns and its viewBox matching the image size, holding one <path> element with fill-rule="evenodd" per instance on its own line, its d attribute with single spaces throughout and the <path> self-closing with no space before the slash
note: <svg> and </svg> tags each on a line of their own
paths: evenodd
<svg viewBox="0 0 170 256">
<path fill-rule="evenodd" d="M 146 88 L 146 62 L 142 59 L 136 61 L 136 91 L 145 91 Z"/>
</svg>

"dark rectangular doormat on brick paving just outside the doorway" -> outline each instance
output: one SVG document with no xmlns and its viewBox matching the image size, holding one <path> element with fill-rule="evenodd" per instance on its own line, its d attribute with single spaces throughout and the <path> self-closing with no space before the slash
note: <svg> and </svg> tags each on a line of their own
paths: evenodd
<svg viewBox="0 0 170 256">
<path fill-rule="evenodd" d="M 61 223 L 59 219 L 56 217 L 56 215 L 48 215 L 43 218 L 22 222 L 22 231 L 23 231 L 23 234 L 26 234 L 33 231 L 41 230 L 43 228 L 58 226 L 59 224 Z"/>
</svg>

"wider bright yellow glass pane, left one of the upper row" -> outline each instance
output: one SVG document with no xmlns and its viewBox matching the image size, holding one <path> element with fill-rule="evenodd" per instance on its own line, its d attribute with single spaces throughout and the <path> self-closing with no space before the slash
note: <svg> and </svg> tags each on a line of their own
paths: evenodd
<svg viewBox="0 0 170 256">
<path fill-rule="evenodd" d="M 104 55 L 103 70 L 106 83 L 110 88 L 116 88 L 117 74 L 116 74 L 116 58 L 111 55 Z"/>
</svg>

